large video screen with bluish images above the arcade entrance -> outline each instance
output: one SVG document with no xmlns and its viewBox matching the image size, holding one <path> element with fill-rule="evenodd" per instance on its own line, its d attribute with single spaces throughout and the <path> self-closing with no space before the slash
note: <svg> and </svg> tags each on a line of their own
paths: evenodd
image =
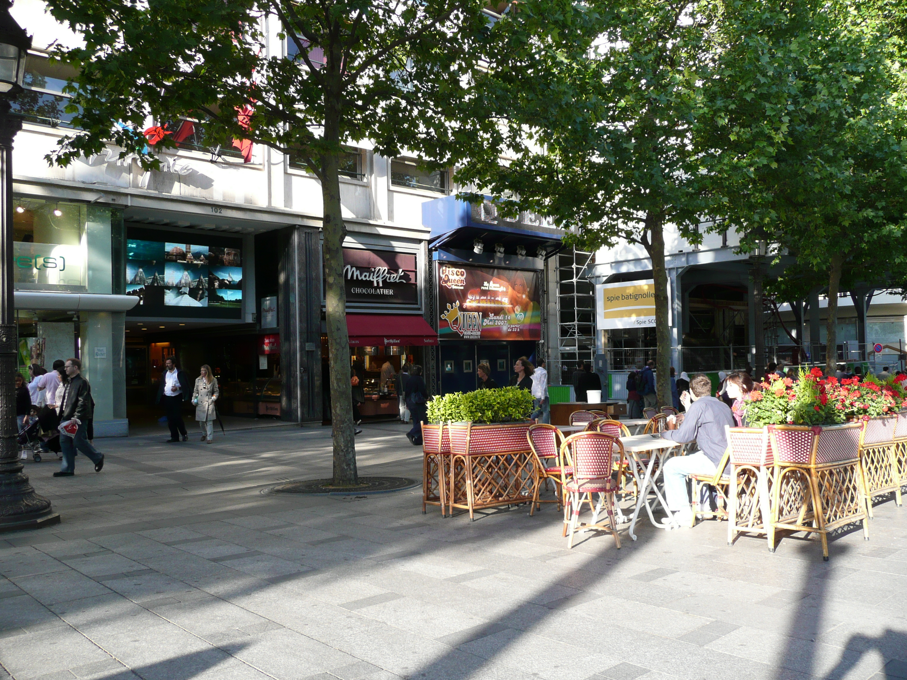
<svg viewBox="0 0 907 680">
<path fill-rule="evenodd" d="M 176 240 L 128 238 L 126 295 L 139 298 L 139 304 L 132 307 L 133 316 L 184 316 L 174 315 L 175 307 L 196 312 L 208 308 L 234 316 L 234 312 L 240 313 L 242 309 L 242 250 Z"/>
</svg>

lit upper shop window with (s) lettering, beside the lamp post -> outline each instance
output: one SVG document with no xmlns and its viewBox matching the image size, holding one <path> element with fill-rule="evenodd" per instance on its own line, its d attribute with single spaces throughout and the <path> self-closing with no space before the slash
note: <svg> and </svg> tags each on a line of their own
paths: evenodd
<svg viewBox="0 0 907 680">
<path fill-rule="evenodd" d="M 82 204 L 14 197 L 13 277 L 17 289 L 87 291 L 88 210 Z M 110 210 L 104 212 L 109 232 Z M 107 238 L 109 251 L 109 233 Z"/>
</svg>

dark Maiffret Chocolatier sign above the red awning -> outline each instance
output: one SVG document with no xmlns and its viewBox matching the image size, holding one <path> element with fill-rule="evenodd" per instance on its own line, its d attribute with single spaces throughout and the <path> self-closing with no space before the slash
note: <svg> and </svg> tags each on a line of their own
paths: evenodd
<svg viewBox="0 0 907 680">
<path fill-rule="evenodd" d="M 343 263 L 346 302 L 375 305 L 418 303 L 418 273 L 414 255 L 389 250 L 344 248 Z"/>
</svg>

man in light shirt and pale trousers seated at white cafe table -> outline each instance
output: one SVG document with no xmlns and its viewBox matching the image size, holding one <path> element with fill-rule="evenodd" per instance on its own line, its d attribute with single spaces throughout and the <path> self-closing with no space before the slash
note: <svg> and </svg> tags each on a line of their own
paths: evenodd
<svg viewBox="0 0 907 680">
<path fill-rule="evenodd" d="M 690 394 L 692 393 L 692 395 Z M 727 403 L 711 396 L 712 382 L 706 374 L 697 373 L 689 381 L 689 392 L 681 401 L 687 415 L 677 430 L 662 433 L 665 439 L 685 443 L 694 440 L 699 451 L 688 456 L 675 456 L 665 463 L 665 498 L 668 510 L 681 527 L 689 527 L 693 510 L 690 507 L 688 474 L 715 474 L 718 463 L 727 449 L 725 426 L 735 426 L 734 414 Z M 673 420 L 675 416 L 669 416 Z"/>
</svg>

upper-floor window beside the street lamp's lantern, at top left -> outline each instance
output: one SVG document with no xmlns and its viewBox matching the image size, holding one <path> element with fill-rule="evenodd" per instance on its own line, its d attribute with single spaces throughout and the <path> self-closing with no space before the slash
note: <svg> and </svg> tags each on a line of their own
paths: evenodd
<svg viewBox="0 0 907 680">
<path fill-rule="evenodd" d="M 25 59 L 24 92 L 13 100 L 13 112 L 20 113 L 25 121 L 51 127 L 73 127 L 73 118 L 81 110 L 67 112 L 73 106 L 72 96 L 64 93 L 68 80 L 76 71 L 69 64 L 52 62 L 42 54 L 29 53 Z"/>
</svg>

